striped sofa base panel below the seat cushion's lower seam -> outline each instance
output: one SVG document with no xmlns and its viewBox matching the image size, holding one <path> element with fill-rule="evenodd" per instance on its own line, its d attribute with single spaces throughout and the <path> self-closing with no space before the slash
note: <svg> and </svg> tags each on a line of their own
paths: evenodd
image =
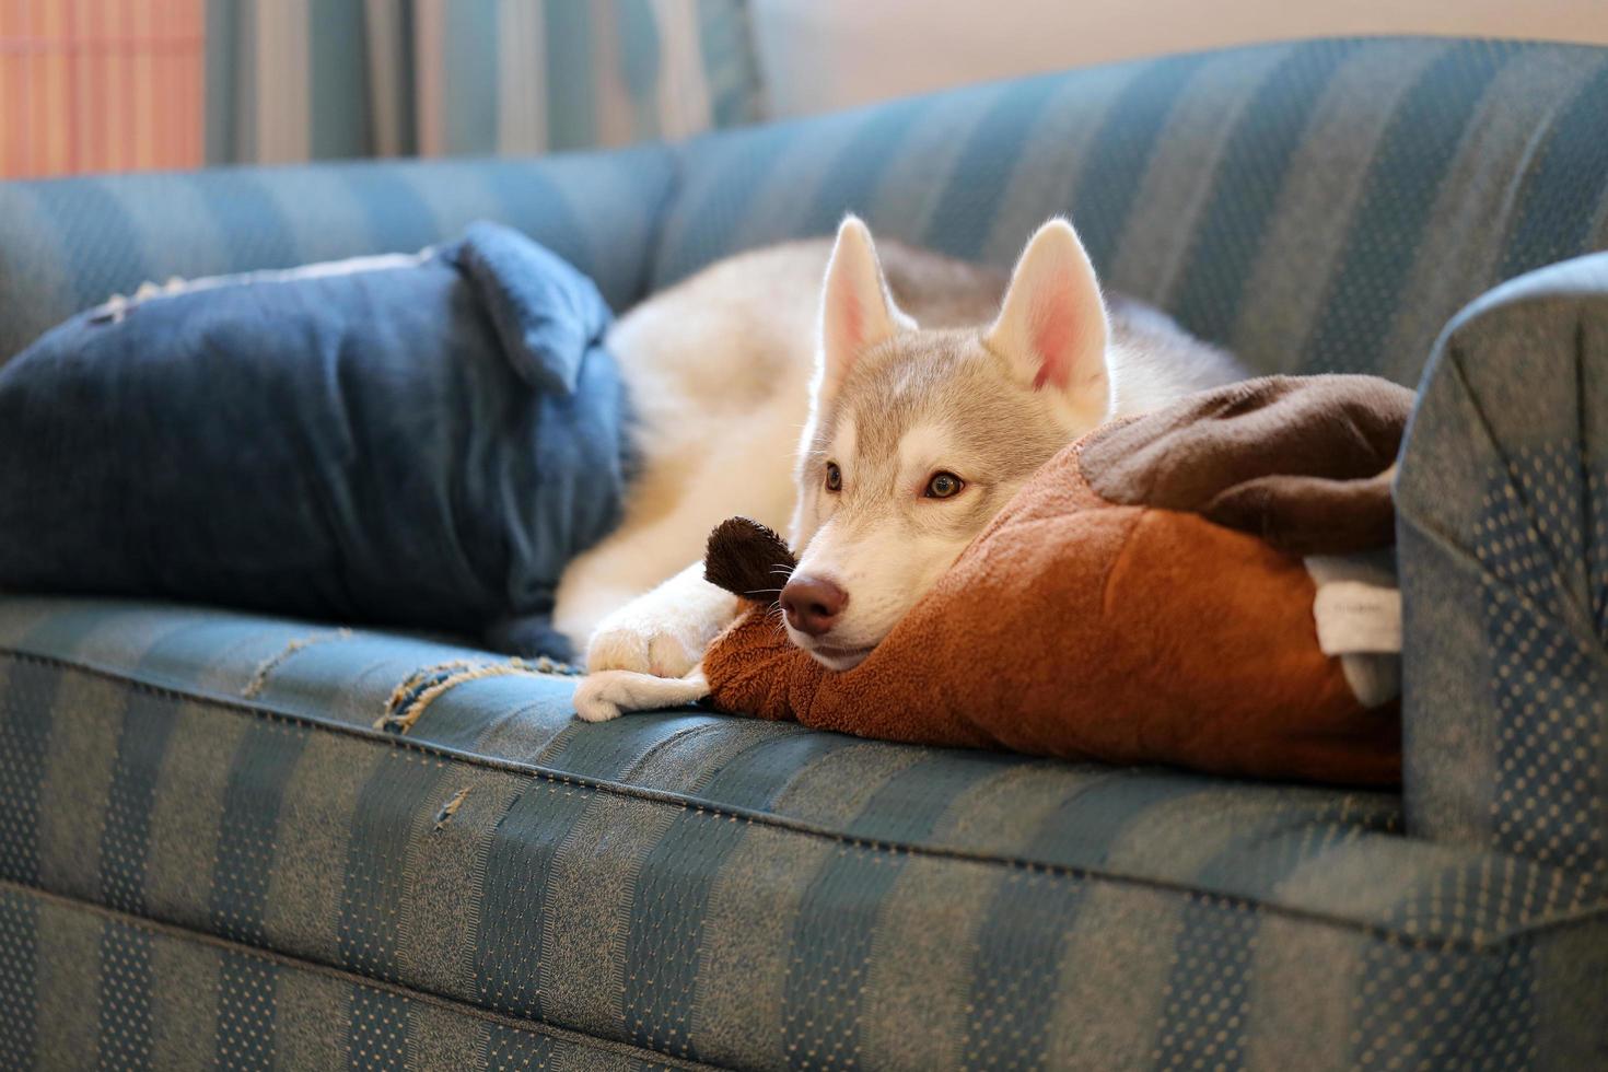
<svg viewBox="0 0 1608 1072">
<path fill-rule="evenodd" d="M 650 1072 L 656 1054 L 513 1021 L 307 961 L 0 882 L 0 943 L 31 947 L 39 990 L 0 979 L 0 1064 L 61 1069 L 574 1069 Z M 135 998 L 121 971 L 161 985 Z M 24 1000 L 16 1001 L 18 996 Z M 143 1000 L 148 1022 L 129 1016 Z M 35 1016 L 37 1011 L 37 1016 Z M 13 1019 L 14 1017 L 14 1019 Z M 109 1030 L 108 1030 L 109 1029 Z"/>
</svg>

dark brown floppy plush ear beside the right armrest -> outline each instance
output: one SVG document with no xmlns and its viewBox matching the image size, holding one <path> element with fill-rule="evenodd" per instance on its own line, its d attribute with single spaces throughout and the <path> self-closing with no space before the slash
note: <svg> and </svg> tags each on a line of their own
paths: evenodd
<svg viewBox="0 0 1608 1072">
<path fill-rule="evenodd" d="M 1396 542 L 1391 464 L 1413 392 L 1373 376 L 1267 376 L 1092 436 L 1113 503 L 1196 513 L 1290 554 Z"/>
</svg>

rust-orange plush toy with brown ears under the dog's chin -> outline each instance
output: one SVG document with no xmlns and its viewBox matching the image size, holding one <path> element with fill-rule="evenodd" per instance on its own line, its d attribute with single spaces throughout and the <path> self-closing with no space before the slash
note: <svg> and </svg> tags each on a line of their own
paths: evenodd
<svg viewBox="0 0 1608 1072">
<path fill-rule="evenodd" d="M 823 669 L 754 603 L 704 657 L 711 702 L 892 741 L 1397 783 L 1397 702 L 1359 699 L 1323 653 L 1306 556 L 1393 543 L 1410 405 L 1365 376 L 1267 378 L 1106 426 L 854 670 Z M 790 564 L 730 522 L 711 540 L 711 580 L 740 595 Z M 753 567 L 769 579 L 745 585 Z"/>
</svg>

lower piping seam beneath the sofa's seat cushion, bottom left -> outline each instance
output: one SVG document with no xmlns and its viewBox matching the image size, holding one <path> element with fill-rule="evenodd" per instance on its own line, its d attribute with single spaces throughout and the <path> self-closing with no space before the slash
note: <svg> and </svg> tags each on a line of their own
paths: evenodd
<svg viewBox="0 0 1608 1072">
<path fill-rule="evenodd" d="M 330 964 L 322 964 L 318 961 L 302 959 L 299 956 L 286 956 L 273 950 L 267 950 L 257 945 L 244 945 L 241 942 L 230 942 L 228 939 L 220 939 L 215 934 L 207 934 L 204 931 L 191 931 L 190 927 L 180 927 L 170 923 L 159 923 L 156 919 L 146 919 L 145 916 L 130 916 L 124 911 L 116 911 L 114 908 L 106 908 L 105 905 L 96 905 L 93 902 L 79 900 L 76 897 L 63 897 L 61 894 L 53 894 L 37 886 L 27 886 L 24 882 L 13 882 L 11 879 L 0 879 L 0 892 L 11 892 L 23 897 L 37 897 L 40 900 L 50 902 L 51 905 L 69 908 L 72 911 L 84 911 L 93 916 L 100 916 L 109 923 L 117 923 L 125 927 L 135 927 L 138 931 L 146 931 L 162 937 L 174 939 L 177 942 L 190 942 L 193 945 L 207 945 L 211 948 L 233 953 L 236 956 L 248 956 L 257 961 L 267 961 L 270 964 L 278 964 L 281 968 L 289 968 L 294 971 L 306 971 L 315 976 L 323 976 L 325 979 L 334 979 L 349 985 L 368 987 L 370 990 L 383 990 L 394 996 L 405 998 L 408 1001 L 418 1001 L 421 1004 L 431 1004 L 458 1016 L 468 1016 L 487 1024 L 497 1024 L 498 1027 L 510 1027 L 513 1030 L 523 1030 L 534 1035 L 550 1035 L 569 1043 L 577 1043 L 590 1046 L 593 1049 L 608 1049 L 626 1058 L 635 1058 L 646 1064 L 667 1064 L 679 1069 L 724 1069 L 725 1066 L 693 1062 L 682 1058 L 672 1058 L 671 1054 L 659 1053 L 658 1049 L 643 1049 L 642 1046 L 632 1046 L 630 1043 L 614 1041 L 611 1038 L 601 1038 L 598 1035 L 589 1035 L 585 1032 L 577 1032 L 571 1027 L 558 1027 L 556 1024 L 548 1024 L 545 1021 L 527 1021 L 515 1016 L 503 1016 L 500 1013 L 492 1013 L 490 1009 L 481 1008 L 478 1004 L 470 1004 L 458 998 L 449 998 L 431 990 L 420 990 L 416 987 L 400 987 L 392 982 L 384 982 L 383 979 L 373 979 L 370 976 L 359 976 L 341 968 L 331 968 Z"/>
</svg>

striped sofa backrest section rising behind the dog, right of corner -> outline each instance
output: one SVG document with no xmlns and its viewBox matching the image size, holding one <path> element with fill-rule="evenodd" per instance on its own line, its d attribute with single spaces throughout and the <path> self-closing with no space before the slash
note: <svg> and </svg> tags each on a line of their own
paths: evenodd
<svg viewBox="0 0 1608 1072">
<path fill-rule="evenodd" d="M 1106 286 L 1262 371 L 1413 383 L 1494 283 L 1608 248 L 1608 48 L 1319 40 L 970 87 L 683 149 L 654 284 L 878 233 L 1007 265 L 1066 212 Z"/>
</svg>

